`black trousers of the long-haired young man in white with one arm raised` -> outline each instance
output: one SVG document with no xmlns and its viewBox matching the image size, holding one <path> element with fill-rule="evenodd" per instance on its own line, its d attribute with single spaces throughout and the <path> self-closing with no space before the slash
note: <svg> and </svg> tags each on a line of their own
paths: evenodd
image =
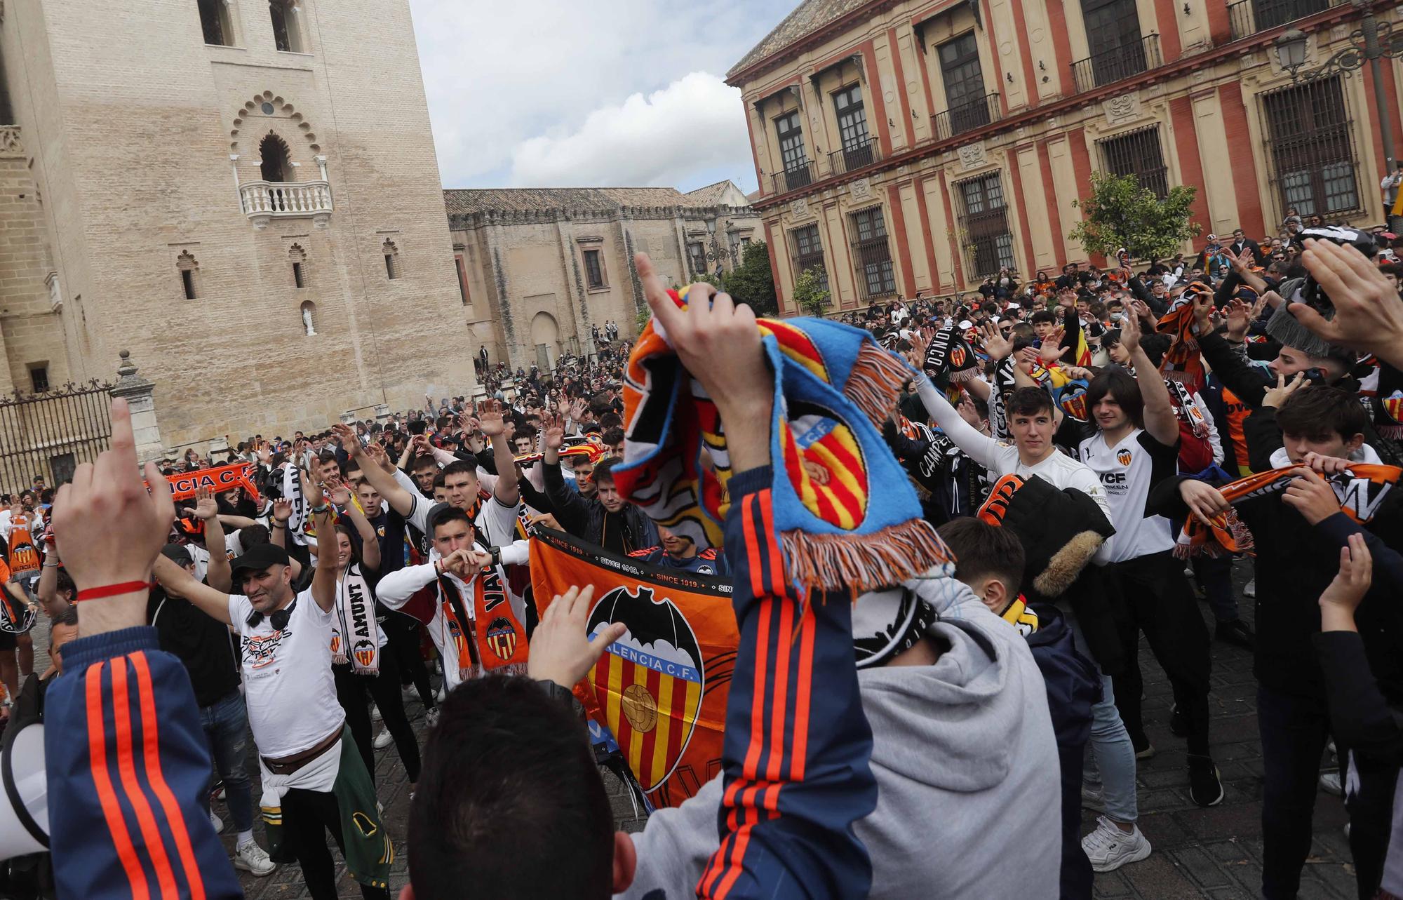
<svg viewBox="0 0 1403 900">
<path fill-rule="evenodd" d="M 1169 676 L 1174 704 L 1188 722 L 1188 751 L 1208 756 L 1208 627 L 1198 613 L 1194 592 L 1184 578 L 1184 564 L 1170 551 L 1114 562 L 1113 603 L 1125 655 L 1124 671 L 1113 677 L 1115 708 L 1131 735 L 1142 735 L 1139 634 L 1143 631 L 1155 659 Z"/>
</svg>

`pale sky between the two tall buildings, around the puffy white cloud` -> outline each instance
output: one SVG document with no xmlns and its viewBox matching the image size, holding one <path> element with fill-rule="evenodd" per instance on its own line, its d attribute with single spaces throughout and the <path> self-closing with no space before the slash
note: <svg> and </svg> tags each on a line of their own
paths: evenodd
<svg viewBox="0 0 1403 900">
<path fill-rule="evenodd" d="M 586 122 L 610 108 L 626 109 L 631 95 L 685 90 L 687 73 L 721 73 L 745 55 L 794 6 L 796 0 L 410 0 L 424 73 L 429 116 L 443 184 L 518 185 L 513 171 L 533 139 L 561 142 L 585 136 Z M 690 90 L 690 88 L 687 88 Z M 699 91 L 699 101 L 721 105 L 720 90 Z M 713 122 L 666 121 L 668 128 Z M 737 95 L 731 116 L 745 128 Z M 655 119 L 662 121 L 662 119 Z M 728 135 L 735 135 L 734 125 Z M 731 140 L 730 137 L 727 140 Z M 753 188 L 751 153 L 730 143 L 731 154 L 716 178 L 744 178 Z M 735 150 L 741 151 L 737 153 Z M 654 150 L 657 153 L 657 150 Z M 620 168 L 631 184 L 651 184 L 657 165 L 643 165 L 645 151 L 629 147 L 637 168 Z M 669 151 L 672 158 L 682 158 Z M 533 171 L 539 167 L 533 167 Z M 679 171 L 675 167 L 671 171 Z M 678 177 L 679 184 L 706 184 Z M 581 172 L 581 177 L 584 172 Z M 657 175 L 661 177 L 661 175 Z M 584 185 L 581 178 L 568 178 Z M 616 182 L 622 184 L 622 182 Z"/>
</svg>

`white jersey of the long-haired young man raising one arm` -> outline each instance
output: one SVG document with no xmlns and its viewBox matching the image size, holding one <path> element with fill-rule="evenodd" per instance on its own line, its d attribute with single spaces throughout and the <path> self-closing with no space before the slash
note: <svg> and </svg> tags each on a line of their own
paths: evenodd
<svg viewBox="0 0 1403 900">
<path fill-rule="evenodd" d="M 1134 429 L 1114 447 L 1097 432 L 1078 447 L 1082 461 L 1096 472 L 1111 505 L 1115 526 L 1099 558 L 1125 562 L 1174 548 L 1169 519 L 1146 516 L 1149 489 L 1179 471 L 1179 446 L 1155 440 L 1142 428 Z"/>
</svg>

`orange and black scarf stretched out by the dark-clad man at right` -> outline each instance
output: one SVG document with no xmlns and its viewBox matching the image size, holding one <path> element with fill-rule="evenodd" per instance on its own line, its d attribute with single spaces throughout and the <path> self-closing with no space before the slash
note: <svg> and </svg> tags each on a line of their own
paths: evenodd
<svg viewBox="0 0 1403 900">
<path fill-rule="evenodd" d="M 1298 478 L 1303 471 L 1306 471 L 1303 465 L 1284 465 L 1239 478 L 1223 485 L 1219 491 L 1229 503 L 1242 503 L 1285 491 L 1291 479 Z M 1393 491 L 1400 475 L 1403 475 L 1403 468 L 1396 465 L 1354 463 L 1343 472 L 1324 478 L 1340 500 L 1340 512 L 1364 526 L 1374 521 L 1375 513 Z M 1237 519 L 1236 510 L 1229 510 L 1216 516 L 1211 527 L 1190 516 L 1174 544 L 1174 555 L 1187 558 L 1202 552 L 1218 557 L 1223 552 L 1247 552 L 1251 548 L 1251 531 Z"/>
</svg>

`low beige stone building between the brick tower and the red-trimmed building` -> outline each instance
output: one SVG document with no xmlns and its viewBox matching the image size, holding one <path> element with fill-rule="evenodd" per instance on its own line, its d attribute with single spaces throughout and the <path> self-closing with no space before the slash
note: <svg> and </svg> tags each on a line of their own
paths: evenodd
<svg viewBox="0 0 1403 900">
<path fill-rule="evenodd" d="M 637 334 L 645 306 L 633 254 L 664 282 L 730 271 L 759 219 L 723 181 L 673 188 L 504 188 L 445 191 L 453 262 L 471 343 L 491 364 L 550 369 L 561 353 L 593 350 L 592 327 Z"/>
</svg>

